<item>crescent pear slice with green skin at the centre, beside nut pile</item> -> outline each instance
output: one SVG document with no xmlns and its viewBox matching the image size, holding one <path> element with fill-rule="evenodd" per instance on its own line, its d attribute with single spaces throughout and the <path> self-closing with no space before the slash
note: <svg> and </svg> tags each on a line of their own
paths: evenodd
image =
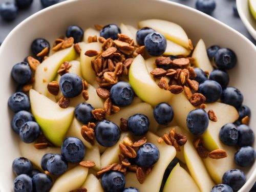
<svg viewBox="0 0 256 192">
<path fill-rule="evenodd" d="M 145 60 L 141 55 L 133 60 L 129 70 L 129 79 L 136 95 L 153 106 L 160 102 L 168 102 L 172 98 L 172 93 L 157 86 L 151 74 L 148 73 Z"/>
</svg>

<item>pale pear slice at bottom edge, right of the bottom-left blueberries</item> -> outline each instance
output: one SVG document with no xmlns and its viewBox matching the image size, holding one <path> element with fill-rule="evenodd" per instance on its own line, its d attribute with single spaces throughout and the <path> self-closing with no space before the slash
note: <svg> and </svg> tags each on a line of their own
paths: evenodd
<svg viewBox="0 0 256 192">
<path fill-rule="evenodd" d="M 88 168 L 76 166 L 61 175 L 53 184 L 50 192 L 69 192 L 78 189 L 87 178 Z"/>
</svg>

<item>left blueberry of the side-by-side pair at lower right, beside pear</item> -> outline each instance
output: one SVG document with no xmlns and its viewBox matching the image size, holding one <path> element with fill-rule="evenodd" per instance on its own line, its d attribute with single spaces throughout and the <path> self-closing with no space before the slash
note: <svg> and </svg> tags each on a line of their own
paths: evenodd
<svg viewBox="0 0 256 192">
<path fill-rule="evenodd" d="M 238 142 L 238 130 L 233 123 L 227 123 L 221 127 L 219 133 L 220 140 L 225 145 L 235 145 Z"/>
</svg>

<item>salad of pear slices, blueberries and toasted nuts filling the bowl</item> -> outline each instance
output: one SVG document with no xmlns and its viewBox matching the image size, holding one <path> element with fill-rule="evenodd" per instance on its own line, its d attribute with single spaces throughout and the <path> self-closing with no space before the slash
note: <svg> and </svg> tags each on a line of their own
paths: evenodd
<svg viewBox="0 0 256 192">
<path fill-rule="evenodd" d="M 61 34 L 60 34 L 61 35 Z M 194 47 L 195 46 L 195 47 Z M 238 191 L 255 161 L 236 54 L 178 24 L 72 25 L 13 66 L 14 191 Z"/>
</svg>

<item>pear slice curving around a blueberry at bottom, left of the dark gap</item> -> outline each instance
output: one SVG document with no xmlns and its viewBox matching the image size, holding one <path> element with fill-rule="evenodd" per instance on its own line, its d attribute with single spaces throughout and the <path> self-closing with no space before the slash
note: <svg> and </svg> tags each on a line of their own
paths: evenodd
<svg viewBox="0 0 256 192">
<path fill-rule="evenodd" d="M 135 187 L 140 191 L 156 192 L 159 191 L 163 179 L 163 174 L 168 164 L 174 159 L 176 150 L 174 146 L 170 146 L 163 143 L 158 143 L 158 136 L 151 132 L 146 134 L 147 142 L 156 145 L 160 152 L 158 161 L 154 164 L 154 167 L 150 174 L 145 178 L 143 184 L 140 184 L 137 180 L 136 174 L 128 172 L 125 176 L 125 187 Z"/>
</svg>

